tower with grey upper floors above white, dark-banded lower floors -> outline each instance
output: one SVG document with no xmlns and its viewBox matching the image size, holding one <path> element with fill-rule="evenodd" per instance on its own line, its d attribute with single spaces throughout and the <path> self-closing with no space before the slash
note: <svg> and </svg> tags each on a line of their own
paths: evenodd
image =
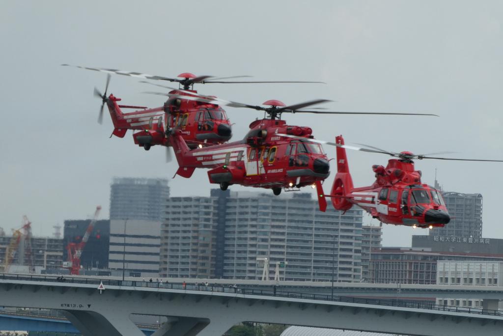
<svg viewBox="0 0 503 336">
<path fill-rule="evenodd" d="M 127 276 L 159 274 L 160 225 L 170 188 L 165 179 L 115 178 L 110 189 L 109 268 Z"/>
</svg>

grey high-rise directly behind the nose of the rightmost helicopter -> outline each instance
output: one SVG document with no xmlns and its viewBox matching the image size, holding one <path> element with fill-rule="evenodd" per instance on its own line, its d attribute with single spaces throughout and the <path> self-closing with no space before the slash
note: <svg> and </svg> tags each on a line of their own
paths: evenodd
<svg viewBox="0 0 503 336">
<path fill-rule="evenodd" d="M 482 237 L 482 195 L 443 192 L 451 217 L 445 227 L 430 230 L 430 235 L 457 236 L 478 239 Z"/>
</svg>

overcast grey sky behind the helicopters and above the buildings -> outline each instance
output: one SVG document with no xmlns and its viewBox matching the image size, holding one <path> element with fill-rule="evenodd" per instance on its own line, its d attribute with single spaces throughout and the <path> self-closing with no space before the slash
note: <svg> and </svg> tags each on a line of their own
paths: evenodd
<svg viewBox="0 0 503 336">
<path fill-rule="evenodd" d="M 177 177 L 162 148 L 144 151 L 131 133 L 113 137 L 105 114 L 96 120 L 106 75 L 61 63 L 111 67 L 174 77 L 253 75 L 263 80 L 322 80 L 327 85 L 206 85 L 199 92 L 249 104 L 337 100 L 334 110 L 420 112 L 434 117 L 287 115 L 316 138 L 361 142 L 392 151 L 457 151 L 454 156 L 503 159 L 503 3 L 499 1 L 192 1 L 0 2 L 3 64 L 0 97 L 0 226 L 21 225 L 36 235 L 52 225 L 108 216 L 114 176 L 170 178 L 173 196 L 208 196 L 205 170 Z M 112 76 L 109 92 L 124 104 L 160 106 L 138 80 Z M 233 139 L 262 114 L 227 108 Z M 329 157 L 332 148 L 325 148 Z M 356 186 L 373 182 L 372 164 L 384 155 L 349 153 Z M 483 235 L 503 238 L 500 172 L 503 163 L 424 160 L 423 182 L 435 169 L 446 190 L 481 193 Z M 327 186 L 333 181 L 327 179 Z M 233 190 L 239 187 L 232 186 Z M 241 187 L 242 188 L 242 187 Z M 310 191 L 311 189 L 305 189 Z M 370 221 L 365 216 L 366 221 Z M 373 222 L 377 224 L 377 222 Z M 408 227 L 386 225 L 385 245 L 408 245 Z"/>
</svg>

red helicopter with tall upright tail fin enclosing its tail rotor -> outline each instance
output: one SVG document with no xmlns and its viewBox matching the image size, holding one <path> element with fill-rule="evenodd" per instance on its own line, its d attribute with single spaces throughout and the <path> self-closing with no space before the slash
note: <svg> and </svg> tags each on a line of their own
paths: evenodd
<svg viewBox="0 0 503 336">
<path fill-rule="evenodd" d="M 289 134 L 281 136 L 302 140 L 301 137 Z M 307 141 L 337 147 L 337 175 L 330 195 L 325 195 L 321 183 L 316 183 L 321 211 L 326 210 L 325 197 L 330 197 L 333 207 L 337 210 L 346 211 L 357 205 L 370 213 L 373 218 L 379 219 L 381 223 L 407 225 L 413 228 L 443 227 L 451 220 L 441 192 L 421 182 L 421 171 L 414 169 L 413 159 L 503 162 L 503 160 L 428 156 L 442 153 L 413 154 L 409 151 L 395 153 L 368 145 L 363 145 L 368 148 L 348 146 L 344 144 L 342 135 L 336 137 L 335 143 L 314 139 Z M 349 171 L 346 149 L 387 154 L 396 158 L 389 159 L 386 167 L 374 164 L 372 170 L 376 181 L 371 186 L 355 188 Z"/>
</svg>

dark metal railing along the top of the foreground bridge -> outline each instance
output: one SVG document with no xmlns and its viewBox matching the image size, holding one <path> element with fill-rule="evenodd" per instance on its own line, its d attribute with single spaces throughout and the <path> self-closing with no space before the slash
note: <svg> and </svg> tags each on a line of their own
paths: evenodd
<svg viewBox="0 0 503 336">
<path fill-rule="evenodd" d="M 356 304 L 371 304 L 371 305 L 381 305 L 391 307 L 442 310 L 450 312 L 464 312 L 471 314 L 503 316 L 503 311 L 499 310 L 488 310 L 488 309 L 471 308 L 471 307 L 455 307 L 455 306 L 438 305 L 433 303 L 402 301 L 398 299 L 372 299 L 372 298 L 358 298 L 351 296 L 334 296 L 326 294 L 310 294 L 310 293 L 300 293 L 290 291 L 278 291 L 276 289 L 276 286 L 273 286 L 273 290 L 265 290 L 265 289 L 239 288 L 237 285 L 223 286 L 209 283 L 188 284 L 185 282 L 183 283 L 178 282 L 172 283 L 168 281 L 157 282 L 157 280 L 154 281 L 153 279 L 148 280 L 142 279 L 138 281 L 131 281 L 131 280 L 96 279 L 96 278 L 83 278 L 83 277 L 65 278 L 64 276 L 53 276 L 53 275 L 31 275 L 31 274 L 22 275 L 22 274 L 7 274 L 7 273 L 3 273 L 0 276 L 0 279 L 60 282 L 60 283 L 73 283 L 73 284 L 91 284 L 97 286 L 100 283 L 103 283 L 103 285 L 105 286 L 147 287 L 147 288 L 159 288 L 159 289 L 181 289 L 181 290 L 204 291 L 204 292 L 236 293 L 244 295 L 275 296 L 275 297 L 284 297 L 292 299 L 336 301 L 336 302 L 356 303 Z"/>
</svg>

